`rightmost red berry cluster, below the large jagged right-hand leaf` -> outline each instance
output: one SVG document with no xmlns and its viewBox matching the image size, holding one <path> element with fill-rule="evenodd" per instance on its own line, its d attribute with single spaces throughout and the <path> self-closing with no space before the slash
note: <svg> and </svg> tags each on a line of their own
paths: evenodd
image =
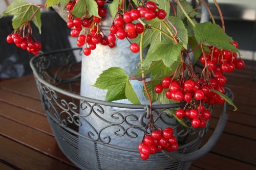
<svg viewBox="0 0 256 170">
<path fill-rule="evenodd" d="M 238 48 L 238 42 L 233 41 L 232 44 Z M 218 74 L 222 72 L 233 72 L 235 68 L 242 69 L 245 64 L 242 59 L 238 59 L 237 53 L 228 50 L 220 50 L 214 46 L 210 46 L 210 51 L 205 57 L 200 57 L 200 62 L 206 64 L 214 72 Z M 207 62 L 205 62 L 205 59 Z"/>
</svg>

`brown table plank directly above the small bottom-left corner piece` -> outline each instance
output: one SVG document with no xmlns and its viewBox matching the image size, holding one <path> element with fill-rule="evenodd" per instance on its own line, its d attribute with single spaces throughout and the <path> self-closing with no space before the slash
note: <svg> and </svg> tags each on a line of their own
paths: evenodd
<svg viewBox="0 0 256 170">
<path fill-rule="evenodd" d="M 46 155 L 42 155 L 41 153 L 38 153 L 33 149 L 27 148 L 24 145 L 7 139 L 3 136 L 0 136 L 0 143 L 0 159 L 8 161 L 9 163 L 17 166 L 20 169 L 77 169 L 72 165 L 63 164 L 56 159 L 50 158 Z"/>
</svg>

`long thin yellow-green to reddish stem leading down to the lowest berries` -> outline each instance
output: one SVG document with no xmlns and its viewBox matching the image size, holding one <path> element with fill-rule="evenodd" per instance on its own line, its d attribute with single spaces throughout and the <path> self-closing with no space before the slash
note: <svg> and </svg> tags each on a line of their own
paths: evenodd
<svg viewBox="0 0 256 170">
<path fill-rule="evenodd" d="M 153 119 L 153 115 L 152 115 L 152 101 L 151 101 L 150 93 L 148 93 L 148 90 L 147 90 L 147 87 L 146 87 L 145 74 L 143 72 L 143 38 L 144 38 L 145 29 L 141 33 L 141 38 L 140 38 L 140 66 L 141 66 L 141 76 L 142 76 L 143 86 L 144 86 L 144 89 L 145 89 L 148 101 L 150 102 L 150 119 L 152 120 Z"/>
</svg>

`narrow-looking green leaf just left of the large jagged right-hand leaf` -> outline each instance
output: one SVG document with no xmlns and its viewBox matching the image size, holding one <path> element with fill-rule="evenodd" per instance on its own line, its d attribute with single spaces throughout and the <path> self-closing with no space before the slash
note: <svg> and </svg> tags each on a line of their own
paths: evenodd
<svg viewBox="0 0 256 170">
<path fill-rule="evenodd" d="M 177 38 L 183 44 L 183 47 L 187 49 L 188 35 L 187 35 L 187 29 L 185 28 L 183 21 L 175 16 L 169 16 L 169 20 L 170 22 L 173 23 L 174 27 L 178 31 Z M 172 32 L 175 35 L 175 31 L 173 29 L 172 29 Z"/>
</svg>

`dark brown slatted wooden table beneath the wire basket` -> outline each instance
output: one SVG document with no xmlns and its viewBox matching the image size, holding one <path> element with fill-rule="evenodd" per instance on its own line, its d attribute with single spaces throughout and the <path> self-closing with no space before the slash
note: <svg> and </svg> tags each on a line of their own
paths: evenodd
<svg viewBox="0 0 256 170">
<path fill-rule="evenodd" d="M 238 111 L 228 107 L 228 123 L 217 145 L 190 169 L 256 169 L 256 82 L 250 71 L 248 64 L 228 74 Z M 221 110 L 216 107 L 205 140 Z M 58 148 L 32 75 L 0 82 L 0 169 L 78 169 Z"/>
</svg>

